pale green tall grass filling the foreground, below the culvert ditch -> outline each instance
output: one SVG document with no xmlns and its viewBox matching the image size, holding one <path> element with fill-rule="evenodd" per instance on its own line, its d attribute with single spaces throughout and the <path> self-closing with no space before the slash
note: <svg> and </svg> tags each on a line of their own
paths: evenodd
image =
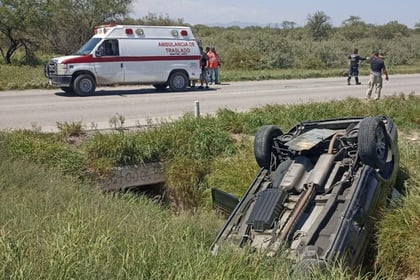
<svg viewBox="0 0 420 280">
<path fill-rule="evenodd" d="M 0 279 L 296 279 L 281 255 L 211 255 L 211 212 L 175 215 L 25 161 L 2 158 L 0 173 Z M 313 276 L 364 279 L 334 267 L 300 279 Z"/>
</svg>

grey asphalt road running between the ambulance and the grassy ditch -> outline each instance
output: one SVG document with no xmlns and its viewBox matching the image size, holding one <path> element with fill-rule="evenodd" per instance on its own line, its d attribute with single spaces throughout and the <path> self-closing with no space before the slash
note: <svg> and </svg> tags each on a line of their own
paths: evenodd
<svg viewBox="0 0 420 280">
<path fill-rule="evenodd" d="M 208 90 L 186 92 L 156 91 L 151 86 L 98 88 L 93 96 L 68 95 L 60 89 L 0 91 L 0 129 L 41 128 L 57 131 L 57 122 L 81 121 L 87 129 L 110 128 L 116 114 L 124 126 L 145 125 L 176 119 L 187 112 L 212 114 L 219 108 L 246 111 L 267 104 L 296 104 L 364 98 L 368 77 L 362 85 L 347 86 L 346 78 L 229 82 L 211 85 Z M 390 75 L 383 96 L 418 94 L 420 74 Z"/>
</svg>

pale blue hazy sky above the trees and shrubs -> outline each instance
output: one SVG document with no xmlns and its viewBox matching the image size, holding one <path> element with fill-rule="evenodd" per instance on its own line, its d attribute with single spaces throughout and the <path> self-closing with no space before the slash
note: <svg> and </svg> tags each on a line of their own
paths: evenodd
<svg viewBox="0 0 420 280">
<path fill-rule="evenodd" d="M 148 13 L 182 18 L 192 25 L 229 24 L 267 25 L 295 22 L 304 26 L 308 15 L 317 11 L 340 26 L 350 16 L 358 16 L 367 24 L 383 25 L 390 21 L 413 28 L 420 22 L 419 0 L 133 0 L 132 17 Z"/>
</svg>

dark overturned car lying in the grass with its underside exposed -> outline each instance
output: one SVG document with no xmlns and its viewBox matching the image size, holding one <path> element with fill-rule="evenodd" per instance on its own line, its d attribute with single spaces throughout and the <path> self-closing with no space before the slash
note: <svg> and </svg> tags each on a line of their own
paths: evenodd
<svg viewBox="0 0 420 280">
<path fill-rule="evenodd" d="M 287 133 L 266 125 L 254 154 L 261 169 L 238 203 L 213 190 L 214 205 L 231 213 L 212 253 L 233 246 L 273 256 L 286 248 L 297 263 L 361 265 L 398 173 L 393 121 L 307 121 Z"/>
</svg>

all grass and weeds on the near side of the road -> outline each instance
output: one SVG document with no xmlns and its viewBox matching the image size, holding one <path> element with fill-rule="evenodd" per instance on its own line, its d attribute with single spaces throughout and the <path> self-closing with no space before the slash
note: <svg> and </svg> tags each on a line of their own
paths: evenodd
<svg viewBox="0 0 420 280">
<path fill-rule="evenodd" d="M 418 97 L 401 94 L 371 103 L 349 98 L 247 113 L 224 109 L 138 132 L 115 127 L 111 133 L 86 133 L 77 123 L 59 124 L 57 134 L 2 131 L 0 278 L 297 279 L 283 256 L 209 254 L 223 223 L 210 209 L 210 187 L 243 193 L 258 170 L 252 136 L 263 124 L 287 130 L 302 120 L 376 114 L 390 115 L 399 128 L 397 187 L 405 192 L 379 224 L 377 270 L 355 276 L 340 265 L 329 266 L 307 278 L 418 275 L 419 107 Z M 77 141 L 68 141 L 75 135 Z M 109 167 L 154 160 L 167 162 L 167 190 L 176 205 L 99 190 Z"/>
</svg>

